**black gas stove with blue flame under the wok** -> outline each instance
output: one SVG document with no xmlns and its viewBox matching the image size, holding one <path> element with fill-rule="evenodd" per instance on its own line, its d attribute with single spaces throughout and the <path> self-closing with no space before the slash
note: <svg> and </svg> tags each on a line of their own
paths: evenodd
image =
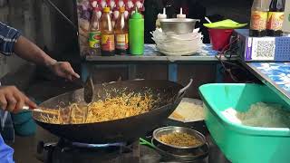
<svg viewBox="0 0 290 163">
<path fill-rule="evenodd" d="M 36 157 L 43 163 L 140 163 L 140 143 L 83 144 L 60 139 L 39 142 Z"/>
</svg>

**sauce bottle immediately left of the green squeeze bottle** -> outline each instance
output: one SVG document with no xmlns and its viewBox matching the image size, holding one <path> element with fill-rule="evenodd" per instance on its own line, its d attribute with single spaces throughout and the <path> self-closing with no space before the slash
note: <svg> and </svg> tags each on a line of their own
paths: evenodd
<svg viewBox="0 0 290 163">
<path fill-rule="evenodd" d="M 115 24 L 115 45 L 116 54 L 124 55 L 128 53 L 128 22 L 125 19 L 125 7 L 120 7 L 120 14 Z"/>
</svg>

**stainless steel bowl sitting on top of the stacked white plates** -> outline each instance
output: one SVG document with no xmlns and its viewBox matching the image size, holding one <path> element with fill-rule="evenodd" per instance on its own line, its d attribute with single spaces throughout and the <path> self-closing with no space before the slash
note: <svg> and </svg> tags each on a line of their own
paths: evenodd
<svg viewBox="0 0 290 163">
<path fill-rule="evenodd" d="M 165 34 L 189 34 L 195 29 L 198 19 L 160 19 L 162 32 Z"/>
</svg>

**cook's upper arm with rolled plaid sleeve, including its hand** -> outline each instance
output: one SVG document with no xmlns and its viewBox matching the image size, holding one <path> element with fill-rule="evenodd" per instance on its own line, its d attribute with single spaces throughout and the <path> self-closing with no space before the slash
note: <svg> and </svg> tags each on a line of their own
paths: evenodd
<svg viewBox="0 0 290 163">
<path fill-rule="evenodd" d="M 73 71 L 69 62 L 56 62 L 43 52 L 36 44 L 21 36 L 14 28 L 0 22 L 0 53 L 10 55 L 16 53 L 29 62 L 44 65 L 50 68 L 56 75 L 73 80 L 80 75 Z"/>
</svg>

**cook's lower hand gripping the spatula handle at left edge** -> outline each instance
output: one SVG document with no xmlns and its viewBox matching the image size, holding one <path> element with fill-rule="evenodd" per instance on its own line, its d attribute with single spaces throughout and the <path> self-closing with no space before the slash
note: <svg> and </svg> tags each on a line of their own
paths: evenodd
<svg viewBox="0 0 290 163">
<path fill-rule="evenodd" d="M 36 108 L 36 104 L 30 101 L 23 92 L 19 91 L 14 86 L 2 86 L 0 87 L 0 107 L 3 110 L 9 110 L 11 112 L 17 112 L 24 106 L 29 108 Z"/>
</svg>

